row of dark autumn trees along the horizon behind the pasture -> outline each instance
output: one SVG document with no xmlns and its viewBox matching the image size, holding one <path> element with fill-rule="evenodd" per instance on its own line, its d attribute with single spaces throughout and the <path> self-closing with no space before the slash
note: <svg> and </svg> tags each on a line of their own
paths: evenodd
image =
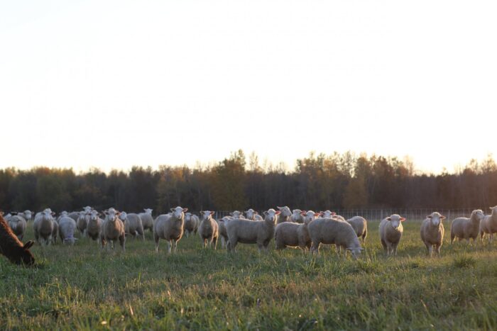
<svg viewBox="0 0 497 331">
<path fill-rule="evenodd" d="M 491 155 L 472 159 L 458 172 L 415 172 L 410 159 L 352 152 L 311 152 L 295 169 L 266 162 L 255 153 L 231 153 L 209 166 L 133 167 L 109 173 L 35 167 L 0 169 L 4 211 L 79 210 L 111 206 L 123 211 L 175 206 L 192 211 L 232 211 L 290 206 L 342 208 L 472 208 L 497 205 L 497 166 Z"/>
</svg>

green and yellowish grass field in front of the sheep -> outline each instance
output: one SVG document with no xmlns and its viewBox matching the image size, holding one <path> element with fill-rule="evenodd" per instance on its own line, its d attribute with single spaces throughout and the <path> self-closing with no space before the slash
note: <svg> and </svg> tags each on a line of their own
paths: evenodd
<svg viewBox="0 0 497 331">
<path fill-rule="evenodd" d="M 151 233 L 124 254 L 87 239 L 35 245 L 38 268 L 0 259 L 0 329 L 497 329 L 497 246 L 451 247 L 447 231 L 442 257 L 429 259 L 420 223 L 404 225 L 398 257 L 387 258 L 369 223 L 356 261 L 273 242 L 268 254 L 239 245 L 230 256 L 199 237 L 167 256 Z"/>
</svg>

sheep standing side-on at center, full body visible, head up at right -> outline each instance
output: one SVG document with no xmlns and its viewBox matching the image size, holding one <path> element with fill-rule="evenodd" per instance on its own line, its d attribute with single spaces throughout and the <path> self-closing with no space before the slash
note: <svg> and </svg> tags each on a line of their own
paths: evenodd
<svg viewBox="0 0 497 331">
<path fill-rule="evenodd" d="M 264 220 L 244 220 L 235 218 L 226 224 L 228 234 L 228 252 L 235 249 L 236 244 L 257 244 L 258 251 L 268 250 L 268 245 L 274 237 L 274 228 L 280 211 L 273 208 L 264 212 Z"/>
</svg>

